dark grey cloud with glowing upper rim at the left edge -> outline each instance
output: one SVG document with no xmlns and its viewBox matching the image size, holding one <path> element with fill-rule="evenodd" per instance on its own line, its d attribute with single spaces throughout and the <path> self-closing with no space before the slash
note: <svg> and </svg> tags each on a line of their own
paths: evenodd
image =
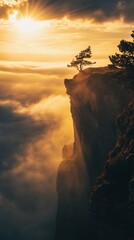
<svg viewBox="0 0 134 240">
<path fill-rule="evenodd" d="M 8 124 L 8 127 L 7 127 Z M 14 154 L 21 151 L 27 141 L 33 141 L 45 132 L 47 124 L 34 121 L 21 105 L 13 100 L 0 101 L 0 164 L 2 169 L 12 165 Z M 14 163 L 14 161 L 13 161 Z M 9 166 L 8 166 L 9 165 Z"/>
</svg>

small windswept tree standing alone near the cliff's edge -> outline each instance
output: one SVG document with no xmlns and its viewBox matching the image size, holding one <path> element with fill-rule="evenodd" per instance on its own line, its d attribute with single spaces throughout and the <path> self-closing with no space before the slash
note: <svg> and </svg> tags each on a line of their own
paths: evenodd
<svg viewBox="0 0 134 240">
<path fill-rule="evenodd" d="M 79 72 L 81 72 L 84 66 L 95 64 L 96 62 L 91 62 L 87 59 L 92 57 L 92 52 L 90 46 L 88 46 L 85 50 L 81 51 L 75 58 L 71 61 L 67 67 L 75 67 Z"/>
</svg>

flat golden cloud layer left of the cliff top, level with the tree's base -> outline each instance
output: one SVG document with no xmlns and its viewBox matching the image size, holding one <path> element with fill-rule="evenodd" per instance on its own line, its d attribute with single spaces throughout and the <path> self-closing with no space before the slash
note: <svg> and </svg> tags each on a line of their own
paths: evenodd
<svg viewBox="0 0 134 240">
<path fill-rule="evenodd" d="M 38 63 L 1 63 L 0 99 L 29 105 L 50 96 L 65 96 L 64 78 L 75 72 L 67 68 L 45 68 Z"/>
</svg>

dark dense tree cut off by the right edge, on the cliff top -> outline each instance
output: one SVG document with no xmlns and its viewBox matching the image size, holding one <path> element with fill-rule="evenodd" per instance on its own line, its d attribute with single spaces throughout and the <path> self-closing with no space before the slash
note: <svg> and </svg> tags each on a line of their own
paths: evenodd
<svg viewBox="0 0 134 240">
<path fill-rule="evenodd" d="M 118 48 L 121 54 L 115 53 L 115 55 L 109 56 L 109 59 L 114 67 L 133 69 L 134 68 L 134 31 L 132 31 L 131 37 L 133 42 L 121 40 Z"/>
</svg>

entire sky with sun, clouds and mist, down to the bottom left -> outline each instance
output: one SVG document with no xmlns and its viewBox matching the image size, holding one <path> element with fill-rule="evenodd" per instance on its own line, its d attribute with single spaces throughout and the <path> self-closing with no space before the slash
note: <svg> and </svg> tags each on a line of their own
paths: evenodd
<svg viewBox="0 0 134 240">
<path fill-rule="evenodd" d="M 67 64 L 106 66 L 131 40 L 134 0 L 0 1 L 0 238 L 52 240 L 56 175 L 73 142 Z M 94 65 L 95 67 L 95 65 Z"/>
</svg>

